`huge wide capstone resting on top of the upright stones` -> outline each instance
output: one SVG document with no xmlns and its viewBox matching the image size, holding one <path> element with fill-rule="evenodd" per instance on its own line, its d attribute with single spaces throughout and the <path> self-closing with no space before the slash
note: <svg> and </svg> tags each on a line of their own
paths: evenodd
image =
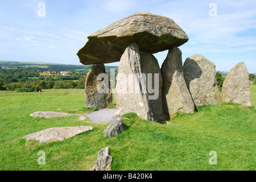
<svg viewBox="0 0 256 182">
<path fill-rule="evenodd" d="M 189 40 L 174 20 L 145 12 L 118 20 L 89 35 L 88 39 L 77 53 L 80 62 L 87 65 L 119 61 L 132 42 L 138 44 L 143 54 L 165 51 Z"/>
</svg>

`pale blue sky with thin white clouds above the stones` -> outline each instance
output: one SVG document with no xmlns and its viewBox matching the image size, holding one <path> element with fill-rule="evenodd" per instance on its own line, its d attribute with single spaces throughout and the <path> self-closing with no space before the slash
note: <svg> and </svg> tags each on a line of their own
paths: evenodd
<svg viewBox="0 0 256 182">
<path fill-rule="evenodd" d="M 0 0 L 0 60 L 81 65 L 87 36 L 138 11 L 171 18 L 186 32 L 183 61 L 199 53 L 217 71 L 244 61 L 256 73 L 255 0 Z M 167 51 L 154 56 L 161 67 Z"/>
</svg>

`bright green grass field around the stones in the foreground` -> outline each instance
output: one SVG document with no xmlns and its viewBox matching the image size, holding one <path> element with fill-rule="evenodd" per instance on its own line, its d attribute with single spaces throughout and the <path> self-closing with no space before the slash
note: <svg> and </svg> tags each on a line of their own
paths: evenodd
<svg viewBox="0 0 256 182">
<path fill-rule="evenodd" d="M 256 86 L 251 86 L 256 106 Z M 107 125 L 66 118 L 31 118 L 35 111 L 85 113 L 81 90 L 38 93 L 0 92 L 0 170 L 89 170 L 98 151 L 110 147 L 112 170 L 256 170 L 256 110 L 237 104 L 202 106 L 194 114 L 179 114 L 168 125 L 123 116 L 126 131 L 103 137 Z M 22 137 L 51 127 L 94 126 L 62 142 L 38 144 Z M 38 152 L 46 164 L 39 165 Z M 210 151 L 217 165 L 210 165 Z"/>
</svg>

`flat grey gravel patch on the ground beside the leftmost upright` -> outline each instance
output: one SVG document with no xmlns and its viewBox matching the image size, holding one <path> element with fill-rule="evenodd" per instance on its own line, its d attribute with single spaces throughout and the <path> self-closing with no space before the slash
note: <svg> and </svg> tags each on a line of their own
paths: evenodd
<svg viewBox="0 0 256 182">
<path fill-rule="evenodd" d="M 92 123 L 109 123 L 117 109 L 100 109 L 90 114 L 85 114 Z"/>
</svg>

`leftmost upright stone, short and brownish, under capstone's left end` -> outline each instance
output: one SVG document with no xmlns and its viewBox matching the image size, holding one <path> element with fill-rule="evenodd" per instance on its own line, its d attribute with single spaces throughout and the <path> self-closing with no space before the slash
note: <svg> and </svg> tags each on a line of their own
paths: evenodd
<svg viewBox="0 0 256 182">
<path fill-rule="evenodd" d="M 85 80 L 85 104 L 86 107 L 97 107 L 98 109 L 106 108 L 112 102 L 112 94 L 110 89 L 110 81 L 107 77 L 106 84 L 102 85 L 104 79 L 98 76 L 106 75 L 105 66 L 103 64 L 93 65 L 86 76 Z M 107 76 L 107 75 L 106 75 Z M 101 88 L 102 86 L 102 88 Z M 98 88 L 104 89 L 104 93 L 98 92 Z M 102 90 L 100 90 L 102 91 Z"/>
</svg>

